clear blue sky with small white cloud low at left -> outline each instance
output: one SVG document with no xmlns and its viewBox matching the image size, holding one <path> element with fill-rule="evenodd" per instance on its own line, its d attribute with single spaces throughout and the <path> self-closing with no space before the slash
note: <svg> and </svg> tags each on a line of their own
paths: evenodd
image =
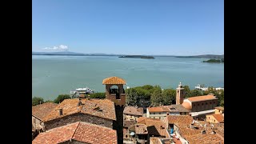
<svg viewBox="0 0 256 144">
<path fill-rule="evenodd" d="M 224 1 L 32 0 L 32 51 L 224 54 Z"/>
</svg>

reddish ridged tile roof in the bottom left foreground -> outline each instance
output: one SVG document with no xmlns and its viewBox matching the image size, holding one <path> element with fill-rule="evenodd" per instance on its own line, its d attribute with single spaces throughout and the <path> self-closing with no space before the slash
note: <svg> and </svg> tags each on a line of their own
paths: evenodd
<svg viewBox="0 0 256 144">
<path fill-rule="evenodd" d="M 86 143 L 117 143 L 116 130 L 87 122 L 75 122 L 39 134 L 33 144 L 61 143 L 70 139 Z"/>
</svg>

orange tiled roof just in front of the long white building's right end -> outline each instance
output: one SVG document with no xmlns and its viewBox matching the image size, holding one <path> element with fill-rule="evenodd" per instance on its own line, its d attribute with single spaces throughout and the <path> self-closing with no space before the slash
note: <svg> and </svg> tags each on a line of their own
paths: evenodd
<svg viewBox="0 0 256 144">
<path fill-rule="evenodd" d="M 176 126 L 190 125 L 194 119 L 189 115 L 167 115 L 169 123 L 173 123 Z"/>
</svg>

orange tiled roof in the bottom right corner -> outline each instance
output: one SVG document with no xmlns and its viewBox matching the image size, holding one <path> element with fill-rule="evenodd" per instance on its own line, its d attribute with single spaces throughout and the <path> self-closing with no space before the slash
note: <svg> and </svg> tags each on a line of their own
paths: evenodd
<svg viewBox="0 0 256 144">
<path fill-rule="evenodd" d="M 218 134 L 195 134 L 187 137 L 186 140 L 190 144 L 223 144 L 224 140 L 218 136 Z"/>
</svg>

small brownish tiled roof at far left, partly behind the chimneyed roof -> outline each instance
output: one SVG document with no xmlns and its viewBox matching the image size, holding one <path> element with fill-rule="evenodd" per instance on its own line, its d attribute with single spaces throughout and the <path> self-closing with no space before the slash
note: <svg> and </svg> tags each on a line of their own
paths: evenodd
<svg viewBox="0 0 256 144">
<path fill-rule="evenodd" d="M 32 115 L 42 120 L 51 110 L 54 110 L 56 106 L 58 106 L 58 104 L 54 102 L 46 102 L 37 106 L 32 106 Z"/>
</svg>

